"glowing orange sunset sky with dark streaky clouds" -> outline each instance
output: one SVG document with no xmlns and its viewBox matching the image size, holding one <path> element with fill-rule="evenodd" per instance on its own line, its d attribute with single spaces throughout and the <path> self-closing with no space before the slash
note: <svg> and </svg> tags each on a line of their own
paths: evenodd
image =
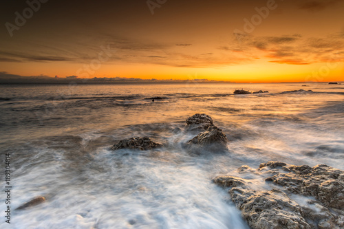
<svg viewBox="0 0 344 229">
<path fill-rule="evenodd" d="M 3 0 L 0 72 L 344 80 L 344 0 Z"/>
</svg>

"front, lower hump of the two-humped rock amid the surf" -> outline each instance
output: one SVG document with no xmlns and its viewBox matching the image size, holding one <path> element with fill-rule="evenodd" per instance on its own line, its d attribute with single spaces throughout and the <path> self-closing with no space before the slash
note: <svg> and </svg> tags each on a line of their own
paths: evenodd
<svg viewBox="0 0 344 229">
<path fill-rule="evenodd" d="M 226 146 L 227 137 L 222 133 L 222 129 L 215 126 L 208 127 L 204 132 L 199 133 L 195 138 L 189 140 L 188 144 L 197 144 L 200 146 L 205 146 L 208 144 L 219 144 Z"/>
</svg>

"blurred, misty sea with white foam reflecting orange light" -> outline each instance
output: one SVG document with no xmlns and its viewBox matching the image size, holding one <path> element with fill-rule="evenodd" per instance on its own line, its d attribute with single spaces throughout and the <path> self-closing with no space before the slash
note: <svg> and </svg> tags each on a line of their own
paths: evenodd
<svg viewBox="0 0 344 229">
<path fill-rule="evenodd" d="M 213 177 L 268 161 L 343 170 L 343 101 L 344 85 L 327 83 L 0 85 L 12 187 L 8 224 L 1 175 L 0 228 L 248 228 Z M 185 151 L 194 135 L 174 130 L 195 113 L 224 131 L 227 153 Z M 110 150 L 136 137 L 164 146 Z M 47 200 L 14 210 L 36 196 Z"/>
</svg>

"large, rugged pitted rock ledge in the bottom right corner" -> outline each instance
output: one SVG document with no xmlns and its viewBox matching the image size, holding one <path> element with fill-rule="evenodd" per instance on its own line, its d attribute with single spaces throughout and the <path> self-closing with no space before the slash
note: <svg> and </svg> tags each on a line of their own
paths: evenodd
<svg viewBox="0 0 344 229">
<path fill-rule="evenodd" d="M 233 176 L 213 179 L 230 187 L 228 193 L 250 228 L 344 228 L 344 171 L 268 162 L 257 170 L 241 166 L 238 172 L 255 173 L 271 187 L 262 190 L 249 179 Z"/>
</svg>

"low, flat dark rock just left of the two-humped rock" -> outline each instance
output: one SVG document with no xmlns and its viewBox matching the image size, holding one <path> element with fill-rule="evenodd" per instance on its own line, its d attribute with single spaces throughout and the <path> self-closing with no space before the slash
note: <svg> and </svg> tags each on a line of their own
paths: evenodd
<svg viewBox="0 0 344 229">
<path fill-rule="evenodd" d="M 117 144 L 111 147 L 111 150 L 116 151 L 118 149 L 140 149 L 147 150 L 162 146 L 158 142 L 153 142 L 150 138 L 129 138 L 127 140 L 120 140 Z"/>
</svg>

